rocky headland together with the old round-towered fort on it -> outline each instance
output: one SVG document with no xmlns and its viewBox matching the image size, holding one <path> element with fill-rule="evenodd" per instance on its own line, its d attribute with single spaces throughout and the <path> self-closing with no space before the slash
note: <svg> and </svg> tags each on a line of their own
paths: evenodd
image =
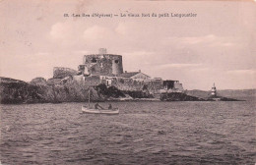
<svg viewBox="0 0 256 165">
<path fill-rule="evenodd" d="M 122 56 L 107 54 L 85 55 L 78 70 L 55 67 L 53 78 L 35 78 L 30 83 L 0 78 L 0 102 L 59 103 L 107 100 L 204 101 L 188 95 L 179 81 L 162 80 L 138 72 L 123 72 Z"/>
</svg>

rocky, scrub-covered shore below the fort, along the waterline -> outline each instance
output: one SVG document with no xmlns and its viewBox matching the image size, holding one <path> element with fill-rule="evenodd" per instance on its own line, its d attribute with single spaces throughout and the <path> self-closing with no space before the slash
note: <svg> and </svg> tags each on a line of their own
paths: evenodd
<svg viewBox="0 0 256 165">
<path fill-rule="evenodd" d="M 143 90 L 119 90 L 104 83 L 87 86 L 72 78 L 48 80 L 35 78 L 30 83 L 10 78 L 0 78 L 0 103 L 59 103 L 92 101 L 203 101 L 203 99 L 184 93 L 167 93 L 155 97 Z"/>
</svg>

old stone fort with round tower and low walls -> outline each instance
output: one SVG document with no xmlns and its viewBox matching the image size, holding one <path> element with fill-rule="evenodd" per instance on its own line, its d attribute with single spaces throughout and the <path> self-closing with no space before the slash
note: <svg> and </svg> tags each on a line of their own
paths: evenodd
<svg viewBox="0 0 256 165">
<path fill-rule="evenodd" d="M 64 77 L 72 76 L 79 83 L 88 86 L 105 83 L 107 86 L 112 85 L 120 90 L 147 90 L 152 94 L 184 91 L 182 83 L 178 81 L 151 78 L 140 70 L 123 72 L 122 60 L 121 55 L 108 54 L 105 48 L 100 48 L 98 54 L 84 56 L 83 64 L 78 66 L 78 71 L 54 68 L 53 78 L 64 79 Z M 67 74 L 67 71 L 70 74 Z"/>
</svg>

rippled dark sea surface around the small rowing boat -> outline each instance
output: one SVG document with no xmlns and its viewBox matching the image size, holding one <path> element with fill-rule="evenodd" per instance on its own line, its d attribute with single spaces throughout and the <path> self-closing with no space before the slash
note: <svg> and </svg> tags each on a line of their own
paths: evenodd
<svg viewBox="0 0 256 165">
<path fill-rule="evenodd" d="M 116 116 L 82 105 L 1 105 L 1 163 L 255 163 L 254 102 L 112 102 Z"/>
</svg>

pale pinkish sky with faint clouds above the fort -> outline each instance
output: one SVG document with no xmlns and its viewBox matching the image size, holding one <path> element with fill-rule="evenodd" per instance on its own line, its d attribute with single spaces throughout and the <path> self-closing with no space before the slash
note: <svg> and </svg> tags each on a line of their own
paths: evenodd
<svg viewBox="0 0 256 165">
<path fill-rule="evenodd" d="M 83 13 L 118 17 L 71 17 Z M 53 67 L 77 69 L 84 55 L 106 48 L 123 56 L 124 71 L 186 89 L 256 88 L 255 1 L 1 0 L 0 23 L 1 77 L 49 79 Z"/>
</svg>

